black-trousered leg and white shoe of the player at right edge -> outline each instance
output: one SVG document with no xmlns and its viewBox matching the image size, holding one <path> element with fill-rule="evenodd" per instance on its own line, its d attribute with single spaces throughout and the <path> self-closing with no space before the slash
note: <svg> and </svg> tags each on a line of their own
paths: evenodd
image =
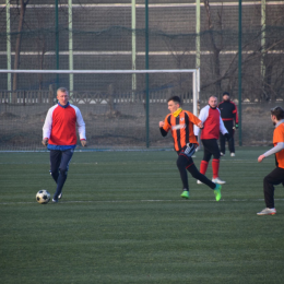
<svg viewBox="0 0 284 284">
<path fill-rule="evenodd" d="M 284 181 L 284 168 L 276 167 L 263 179 L 263 192 L 267 208 L 258 215 L 273 215 L 276 213 L 274 208 L 274 186 Z"/>
</svg>

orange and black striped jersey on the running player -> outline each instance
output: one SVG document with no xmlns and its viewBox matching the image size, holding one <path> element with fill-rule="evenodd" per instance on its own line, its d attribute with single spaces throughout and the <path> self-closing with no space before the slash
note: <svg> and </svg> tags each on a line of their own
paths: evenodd
<svg viewBox="0 0 284 284">
<path fill-rule="evenodd" d="M 198 144 L 193 133 L 193 125 L 198 125 L 201 120 L 190 111 L 181 110 L 177 117 L 169 114 L 166 116 L 164 122 L 165 125 L 161 128 L 161 133 L 165 137 L 170 130 L 176 151 L 181 151 L 187 143 Z"/>
</svg>

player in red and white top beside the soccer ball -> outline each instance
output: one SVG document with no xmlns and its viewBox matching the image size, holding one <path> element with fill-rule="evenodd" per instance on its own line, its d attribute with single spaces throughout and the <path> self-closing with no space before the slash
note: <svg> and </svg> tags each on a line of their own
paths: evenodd
<svg viewBox="0 0 284 284">
<path fill-rule="evenodd" d="M 52 202 L 62 198 L 69 163 L 76 146 L 76 125 L 82 146 L 86 146 L 85 122 L 76 106 L 69 104 L 67 88 L 57 90 L 58 104 L 49 108 L 43 144 L 50 151 L 50 175 L 57 184 Z"/>
</svg>

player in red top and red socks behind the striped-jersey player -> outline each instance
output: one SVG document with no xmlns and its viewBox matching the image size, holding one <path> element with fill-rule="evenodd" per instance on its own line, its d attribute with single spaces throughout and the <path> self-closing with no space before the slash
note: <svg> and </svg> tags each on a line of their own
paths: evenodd
<svg viewBox="0 0 284 284">
<path fill-rule="evenodd" d="M 220 110 L 217 108 L 217 98 L 215 96 L 211 96 L 209 98 L 209 104 L 203 107 L 200 111 L 199 119 L 204 125 L 204 128 L 201 132 L 201 141 L 204 146 L 203 159 L 200 164 L 200 173 L 205 175 L 209 161 L 213 155 L 212 159 L 212 169 L 213 169 L 213 178 L 212 181 L 215 184 L 226 184 L 226 181 L 222 180 L 218 177 L 218 167 L 220 167 L 220 149 L 217 144 L 220 132 L 224 134 L 229 140 L 229 134 L 227 129 L 225 128 L 223 120 L 220 115 Z M 198 137 L 200 128 L 194 126 L 194 135 Z M 202 184 L 202 180 L 198 180 L 198 184 Z"/>
</svg>

